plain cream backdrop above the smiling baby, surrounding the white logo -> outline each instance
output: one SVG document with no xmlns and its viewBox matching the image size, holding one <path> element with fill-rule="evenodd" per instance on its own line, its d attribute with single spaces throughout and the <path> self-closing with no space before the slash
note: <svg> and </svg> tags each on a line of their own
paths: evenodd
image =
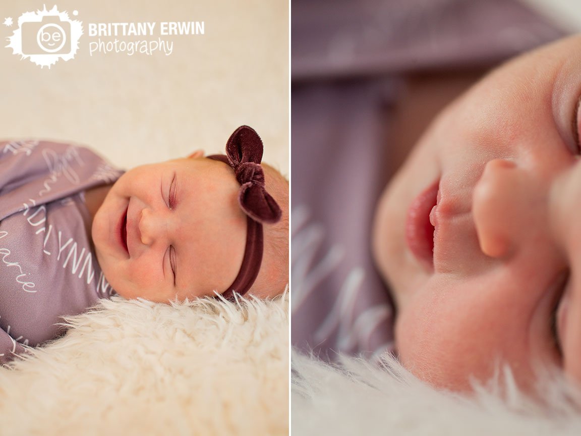
<svg viewBox="0 0 581 436">
<path fill-rule="evenodd" d="M 21 13 L 55 3 L 83 22 L 74 59 L 41 68 L 5 48 Z M 169 56 L 89 55 L 98 38 L 88 23 L 163 21 L 203 21 L 205 34 L 162 36 L 174 43 Z M 263 139 L 264 162 L 288 176 L 287 1 L 3 0 L 0 38 L 0 138 L 81 142 L 128 168 L 197 148 L 223 152 L 248 124 Z"/>
</svg>

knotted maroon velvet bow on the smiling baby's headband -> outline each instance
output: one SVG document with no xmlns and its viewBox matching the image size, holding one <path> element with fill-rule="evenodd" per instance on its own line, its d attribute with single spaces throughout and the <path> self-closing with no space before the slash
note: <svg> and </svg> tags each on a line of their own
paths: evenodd
<svg viewBox="0 0 581 436">
<path fill-rule="evenodd" d="M 226 155 L 241 184 L 238 194 L 240 207 L 259 223 L 276 223 L 281 208 L 264 189 L 264 170 L 260 166 L 264 146 L 252 127 L 240 126 L 228 138 Z"/>
</svg>

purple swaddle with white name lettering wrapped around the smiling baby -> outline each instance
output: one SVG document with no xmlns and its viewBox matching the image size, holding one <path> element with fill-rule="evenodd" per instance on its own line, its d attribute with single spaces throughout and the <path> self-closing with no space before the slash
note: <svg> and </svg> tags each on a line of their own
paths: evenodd
<svg viewBox="0 0 581 436">
<path fill-rule="evenodd" d="M 122 174 L 87 148 L 0 142 L 0 363 L 58 337 L 60 317 L 114 292 L 91 242 L 84 191 Z"/>
</svg>

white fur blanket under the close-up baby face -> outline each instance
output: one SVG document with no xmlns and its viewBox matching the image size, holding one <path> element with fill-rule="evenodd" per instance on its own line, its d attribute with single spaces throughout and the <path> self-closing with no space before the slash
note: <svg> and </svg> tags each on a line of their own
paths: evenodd
<svg viewBox="0 0 581 436">
<path fill-rule="evenodd" d="M 474 395 L 436 391 L 395 359 L 380 368 L 345 358 L 340 367 L 293 353 L 293 435 L 556 436 L 581 434 L 579 394 L 558 377 L 541 387 L 541 406 L 519 393 L 510 372 Z M 505 383 L 505 394 L 499 387 Z M 502 398 L 501 398 L 502 397 Z"/>
</svg>

